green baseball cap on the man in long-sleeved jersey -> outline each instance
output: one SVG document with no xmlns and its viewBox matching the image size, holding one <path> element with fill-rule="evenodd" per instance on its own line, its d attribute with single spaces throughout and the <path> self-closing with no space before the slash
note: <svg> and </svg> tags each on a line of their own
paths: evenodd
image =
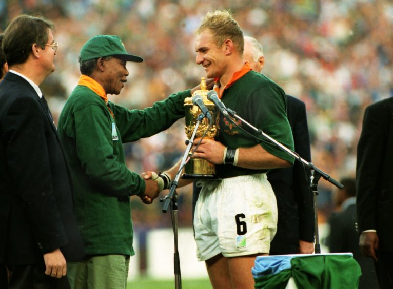
<svg viewBox="0 0 393 289">
<path fill-rule="evenodd" d="M 87 40 L 82 46 L 79 62 L 105 57 L 105 56 L 117 56 L 125 59 L 126 61 L 142 62 L 143 58 L 129 54 L 120 39 L 116 35 L 96 35 L 93 38 Z"/>
</svg>

